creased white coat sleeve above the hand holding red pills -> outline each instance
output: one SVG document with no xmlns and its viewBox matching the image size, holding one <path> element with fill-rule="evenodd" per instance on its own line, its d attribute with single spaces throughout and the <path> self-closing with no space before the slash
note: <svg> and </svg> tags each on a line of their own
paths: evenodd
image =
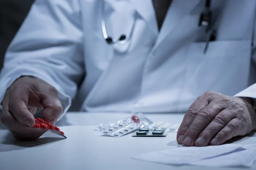
<svg viewBox="0 0 256 170">
<path fill-rule="evenodd" d="M 62 117 L 84 75 L 82 39 L 77 0 L 36 0 L 6 52 L 0 103 L 15 79 L 31 75 L 57 89 Z"/>
</svg>

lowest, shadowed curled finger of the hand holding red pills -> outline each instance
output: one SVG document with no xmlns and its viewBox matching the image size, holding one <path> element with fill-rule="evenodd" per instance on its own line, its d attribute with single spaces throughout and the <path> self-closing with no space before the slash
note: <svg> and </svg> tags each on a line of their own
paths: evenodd
<svg viewBox="0 0 256 170">
<path fill-rule="evenodd" d="M 4 102 L 3 102 L 4 103 Z M 9 127 L 13 136 L 19 140 L 32 140 L 38 139 L 47 130 L 40 128 L 31 128 L 22 125 L 9 111 L 8 104 L 3 104 L 3 110 L 1 113 L 1 122 L 3 125 Z"/>
</svg>

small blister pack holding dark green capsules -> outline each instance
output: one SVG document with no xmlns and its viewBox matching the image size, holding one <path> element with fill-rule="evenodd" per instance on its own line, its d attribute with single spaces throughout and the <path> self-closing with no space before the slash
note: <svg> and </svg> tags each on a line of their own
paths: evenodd
<svg viewBox="0 0 256 170">
<path fill-rule="evenodd" d="M 167 136 L 167 132 L 163 129 L 154 129 L 150 130 L 148 128 L 140 128 L 137 132 L 135 132 L 132 136 L 143 136 L 143 137 L 165 137 Z"/>
</svg>

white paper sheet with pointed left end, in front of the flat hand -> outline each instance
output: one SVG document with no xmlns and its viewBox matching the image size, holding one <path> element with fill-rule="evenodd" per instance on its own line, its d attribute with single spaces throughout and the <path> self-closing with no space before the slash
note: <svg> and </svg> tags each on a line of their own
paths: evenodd
<svg viewBox="0 0 256 170">
<path fill-rule="evenodd" d="M 224 144 L 220 146 L 207 147 L 177 147 L 170 150 L 144 153 L 132 158 L 162 164 L 183 165 L 225 153 L 231 153 L 232 151 L 239 149 L 241 146 L 241 144 Z"/>
</svg>

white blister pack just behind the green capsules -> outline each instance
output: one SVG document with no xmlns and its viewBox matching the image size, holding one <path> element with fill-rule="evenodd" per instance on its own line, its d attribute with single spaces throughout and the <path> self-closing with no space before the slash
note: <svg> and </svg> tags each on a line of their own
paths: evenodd
<svg viewBox="0 0 256 170">
<path fill-rule="evenodd" d="M 164 122 L 154 122 L 151 125 L 149 125 L 147 128 L 149 128 L 150 130 L 163 129 L 166 132 L 177 132 L 179 127 L 180 127 L 179 124 L 164 123 Z"/>
</svg>

